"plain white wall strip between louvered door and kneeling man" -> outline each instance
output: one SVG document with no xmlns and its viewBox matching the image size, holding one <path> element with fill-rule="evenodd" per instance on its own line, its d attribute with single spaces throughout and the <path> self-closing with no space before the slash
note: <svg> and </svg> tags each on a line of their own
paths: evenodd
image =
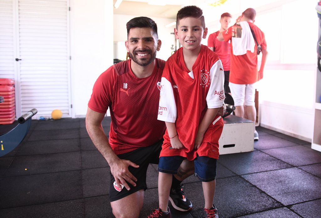
<svg viewBox="0 0 321 218">
<path fill-rule="evenodd" d="M 84 117 L 98 76 L 113 64 L 113 2 L 71 0 L 72 117 Z"/>
</svg>

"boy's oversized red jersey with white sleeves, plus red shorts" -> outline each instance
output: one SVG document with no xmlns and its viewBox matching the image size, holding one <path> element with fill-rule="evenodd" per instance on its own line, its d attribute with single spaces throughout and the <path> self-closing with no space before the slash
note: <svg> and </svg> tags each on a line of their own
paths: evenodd
<svg viewBox="0 0 321 218">
<path fill-rule="evenodd" d="M 185 148 L 171 149 L 166 130 L 160 157 L 182 156 L 194 160 L 198 154 L 218 159 L 218 140 L 223 129 L 220 116 L 213 119 L 197 150 L 194 149 L 194 142 L 207 108 L 220 108 L 224 98 L 222 63 L 207 46 L 201 45 L 191 72 L 185 65 L 183 48 L 169 57 L 161 78 L 158 119 L 175 123 L 179 140 Z"/>
</svg>

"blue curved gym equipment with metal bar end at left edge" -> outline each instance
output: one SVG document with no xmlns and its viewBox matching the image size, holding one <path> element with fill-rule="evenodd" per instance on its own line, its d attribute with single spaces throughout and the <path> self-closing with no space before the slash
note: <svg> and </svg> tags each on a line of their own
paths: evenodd
<svg viewBox="0 0 321 218">
<path fill-rule="evenodd" d="M 18 125 L 7 133 L 0 135 L 0 157 L 11 152 L 16 148 L 28 134 L 31 126 L 31 117 L 38 112 L 37 109 L 31 109 L 18 118 Z"/>
</svg>

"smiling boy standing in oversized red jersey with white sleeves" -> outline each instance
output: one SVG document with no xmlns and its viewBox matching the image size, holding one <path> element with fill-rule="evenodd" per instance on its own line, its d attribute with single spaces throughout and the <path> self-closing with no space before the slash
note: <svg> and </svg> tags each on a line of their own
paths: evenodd
<svg viewBox="0 0 321 218">
<path fill-rule="evenodd" d="M 158 119 L 167 130 L 158 165 L 159 209 L 149 217 L 171 217 L 172 174 L 186 158 L 194 160 L 195 176 L 202 181 L 204 217 L 218 217 L 213 197 L 223 120 L 216 113 L 225 98 L 224 71 L 219 57 L 201 45 L 207 28 L 200 8 L 180 9 L 174 31 L 183 48 L 169 57 L 162 74 Z"/>
</svg>

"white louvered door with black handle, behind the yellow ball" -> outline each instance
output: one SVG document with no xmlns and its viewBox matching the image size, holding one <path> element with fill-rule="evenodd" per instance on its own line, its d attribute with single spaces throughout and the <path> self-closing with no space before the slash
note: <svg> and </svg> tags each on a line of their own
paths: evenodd
<svg viewBox="0 0 321 218">
<path fill-rule="evenodd" d="M 60 109 L 63 117 L 71 117 L 69 0 L 0 2 L 12 2 L 13 14 L 17 14 L 13 16 L 14 59 L 21 59 L 13 61 L 17 68 L 17 117 L 32 108 L 38 109 L 37 117 L 50 116 L 54 109 Z M 4 60 L 1 57 L 0 61 Z"/>
</svg>

